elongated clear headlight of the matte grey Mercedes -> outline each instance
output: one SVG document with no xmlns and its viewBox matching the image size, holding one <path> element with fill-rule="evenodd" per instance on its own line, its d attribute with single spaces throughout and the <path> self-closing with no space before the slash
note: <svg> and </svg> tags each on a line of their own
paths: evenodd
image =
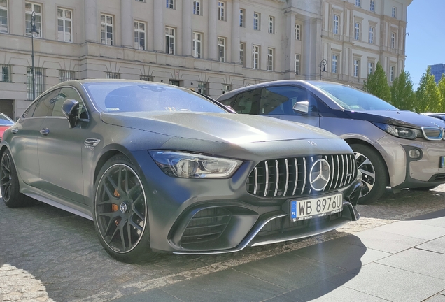
<svg viewBox="0 0 445 302">
<path fill-rule="evenodd" d="M 148 151 L 157 166 L 178 178 L 229 178 L 242 161 L 167 150 Z"/>
</svg>

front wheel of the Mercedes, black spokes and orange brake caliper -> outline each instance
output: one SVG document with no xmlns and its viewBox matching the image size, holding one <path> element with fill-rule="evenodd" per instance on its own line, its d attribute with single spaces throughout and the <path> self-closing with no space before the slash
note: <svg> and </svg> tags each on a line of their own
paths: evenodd
<svg viewBox="0 0 445 302">
<path fill-rule="evenodd" d="M 94 226 L 111 257 L 131 263 L 150 259 L 146 194 L 132 162 L 123 155 L 108 159 L 94 186 Z"/>
</svg>

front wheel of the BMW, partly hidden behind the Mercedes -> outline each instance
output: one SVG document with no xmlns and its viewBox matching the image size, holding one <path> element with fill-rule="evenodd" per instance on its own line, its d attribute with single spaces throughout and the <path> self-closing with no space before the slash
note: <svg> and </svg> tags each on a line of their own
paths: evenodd
<svg viewBox="0 0 445 302">
<path fill-rule="evenodd" d="M 362 144 L 351 144 L 357 161 L 358 170 L 362 172 L 363 187 L 360 192 L 359 204 L 377 201 L 386 191 L 388 172 L 380 154 Z"/>
</svg>

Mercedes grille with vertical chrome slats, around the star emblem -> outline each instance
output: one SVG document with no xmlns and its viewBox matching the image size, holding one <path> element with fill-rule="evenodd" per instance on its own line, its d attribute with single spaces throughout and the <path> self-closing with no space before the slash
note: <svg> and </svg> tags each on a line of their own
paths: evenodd
<svg viewBox="0 0 445 302">
<path fill-rule="evenodd" d="M 329 165 L 327 184 L 317 192 L 327 192 L 350 185 L 357 177 L 357 164 L 353 154 L 316 155 L 270 159 L 257 164 L 246 183 L 248 193 L 260 197 L 284 197 L 311 194 L 310 171 L 314 164 Z M 318 173 L 315 167 L 316 173 Z"/>
</svg>

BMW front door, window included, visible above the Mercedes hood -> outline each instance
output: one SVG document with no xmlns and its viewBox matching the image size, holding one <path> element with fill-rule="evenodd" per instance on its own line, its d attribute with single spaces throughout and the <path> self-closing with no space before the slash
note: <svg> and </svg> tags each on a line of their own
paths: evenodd
<svg viewBox="0 0 445 302">
<path fill-rule="evenodd" d="M 294 110 L 296 103 L 305 110 Z M 320 127 L 318 101 L 302 87 L 282 85 L 262 88 L 259 112 L 260 115 Z"/>
</svg>

